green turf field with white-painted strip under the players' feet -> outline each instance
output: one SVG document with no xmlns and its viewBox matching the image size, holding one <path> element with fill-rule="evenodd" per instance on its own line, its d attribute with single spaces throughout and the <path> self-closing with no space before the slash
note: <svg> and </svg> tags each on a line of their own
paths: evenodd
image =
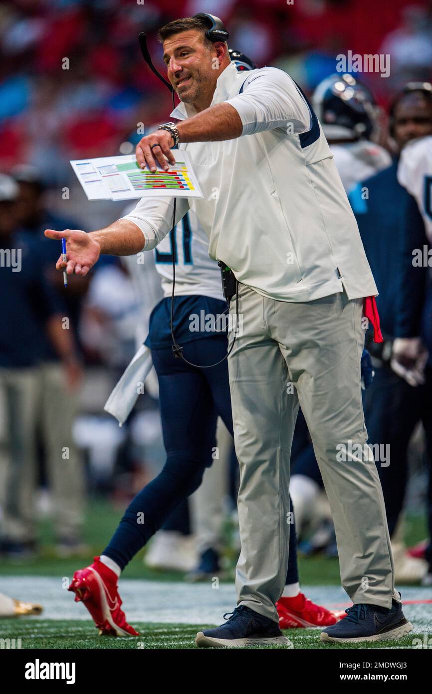
<svg viewBox="0 0 432 694">
<path fill-rule="evenodd" d="M 89 545 L 86 557 L 58 559 L 51 523 L 42 521 L 39 527 L 40 552 L 26 561 L 1 561 L 0 591 L 44 605 L 42 617 L 0 620 L 1 638 L 21 638 L 22 649 L 193 649 L 196 632 L 223 621 L 227 609 L 234 609 L 233 586 L 236 551 L 228 545 L 225 553 L 227 579 L 219 591 L 209 585 L 186 584 L 177 572 L 155 572 L 143 565 L 140 552 L 128 565 L 121 579 L 121 596 L 130 623 L 142 634 L 137 638 L 97 636 L 96 628 L 82 604 L 74 603 L 73 595 L 64 588 L 74 570 L 89 564 L 92 556 L 104 548 L 121 518 L 121 509 L 106 500 L 93 500 L 87 511 L 85 542 Z M 426 536 L 424 519 L 409 517 L 406 521 L 406 541 L 413 544 Z M 302 586 L 311 599 L 327 607 L 343 609 L 347 596 L 340 588 L 337 559 L 316 556 L 299 559 Z M 132 579 L 132 580 L 131 580 Z M 398 586 L 400 587 L 400 586 Z M 311 595 L 309 595 L 309 591 Z M 410 592 L 411 591 L 411 592 Z M 217 594 L 217 595 L 216 595 Z M 402 589 L 407 600 L 406 616 L 414 630 L 400 641 L 364 643 L 361 648 L 412 649 L 413 639 L 422 640 L 432 632 L 432 598 L 430 589 Z M 211 604 L 213 601 L 213 604 Z M 349 602 L 348 602 L 349 604 Z M 172 611 L 175 605 L 177 611 Z M 212 623 L 209 623 L 211 620 Z M 213 621 L 214 620 L 214 621 Z M 290 629 L 285 632 L 294 649 L 351 648 L 357 645 L 322 644 L 319 629 Z M 426 642 L 427 642 L 426 638 Z M 269 647 L 265 647 L 269 648 Z M 282 648 L 280 646 L 273 648 Z"/>
</svg>

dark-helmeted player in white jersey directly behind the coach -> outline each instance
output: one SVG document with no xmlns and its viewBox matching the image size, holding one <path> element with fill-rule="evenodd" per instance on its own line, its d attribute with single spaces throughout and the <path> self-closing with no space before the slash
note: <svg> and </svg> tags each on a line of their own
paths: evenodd
<svg viewBox="0 0 432 694">
<path fill-rule="evenodd" d="M 368 87 L 352 75 L 334 74 L 320 82 L 311 101 L 345 191 L 390 166 L 388 151 L 371 139 L 378 134 L 380 110 Z M 301 409 L 293 439 L 290 491 L 298 535 L 318 528 L 304 548 L 318 551 L 327 547 L 329 555 L 336 557 L 330 509 Z"/>
</svg>

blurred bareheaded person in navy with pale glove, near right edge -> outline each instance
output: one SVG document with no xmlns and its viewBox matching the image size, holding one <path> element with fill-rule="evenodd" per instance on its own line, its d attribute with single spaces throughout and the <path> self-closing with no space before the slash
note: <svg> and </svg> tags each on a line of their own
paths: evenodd
<svg viewBox="0 0 432 694">
<path fill-rule="evenodd" d="M 398 153 L 408 142 L 432 133 L 431 85 L 407 85 L 390 108 L 390 135 Z M 411 166 L 415 162 L 411 162 Z M 395 575 L 401 582 L 420 582 L 427 566 L 408 555 L 401 533 L 401 511 L 408 479 L 408 444 L 418 423 L 426 434 L 426 460 L 432 461 L 432 371 L 427 365 L 422 314 L 428 267 L 414 266 L 413 249 L 427 245 L 415 199 L 397 180 L 398 159 L 380 174 L 366 178 L 349 200 L 365 252 L 377 280 L 377 305 L 384 342 L 368 342 L 375 378 L 365 393 L 369 441 L 387 446 L 376 464 L 386 503 Z"/>
</svg>

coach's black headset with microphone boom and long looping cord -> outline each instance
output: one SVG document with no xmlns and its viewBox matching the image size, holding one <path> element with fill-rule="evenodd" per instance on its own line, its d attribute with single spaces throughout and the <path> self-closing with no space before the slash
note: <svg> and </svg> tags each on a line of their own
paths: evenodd
<svg viewBox="0 0 432 694">
<path fill-rule="evenodd" d="M 207 29 L 205 35 L 211 43 L 216 43 L 216 41 L 226 41 L 227 38 L 230 36 L 230 34 L 227 32 L 225 29 L 225 26 L 223 26 L 223 22 L 219 17 L 215 17 L 214 15 L 207 15 L 206 12 L 198 12 L 198 15 L 193 15 L 192 19 L 205 19 L 207 24 L 209 24 L 209 28 Z M 159 78 L 159 80 L 166 86 L 171 92 L 171 96 L 173 99 L 173 110 L 175 108 L 175 100 L 174 100 L 174 87 L 169 83 L 168 80 L 166 80 L 162 74 L 160 74 L 159 70 L 153 65 L 153 61 L 150 57 L 150 52 L 148 51 L 148 46 L 147 46 L 147 36 L 144 33 L 144 31 L 141 31 L 141 33 L 138 36 L 138 41 L 139 41 L 139 47 L 141 49 L 142 56 L 144 60 L 146 61 L 148 67 L 150 67 L 150 70 Z M 239 54 L 241 55 L 241 54 Z M 252 62 L 252 61 L 250 61 Z M 248 64 L 250 64 L 250 62 Z M 247 68 L 245 68 L 247 69 Z M 177 198 L 174 198 L 174 205 L 173 205 L 173 224 L 171 227 L 170 235 L 175 234 L 175 208 L 176 208 L 176 201 Z M 221 274 L 222 274 L 222 284 L 223 284 L 223 291 L 224 291 L 224 296 L 226 297 L 225 291 L 233 291 L 232 296 L 234 296 L 234 293 L 236 294 L 236 328 L 234 330 L 234 339 L 232 341 L 232 345 L 230 349 L 227 351 L 225 357 L 222 359 L 219 359 L 218 362 L 215 362 L 214 364 L 208 364 L 207 366 L 202 366 L 200 364 L 193 364 L 192 362 L 189 362 L 184 355 L 182 355 L 183 348 L 179 344 L 176 343 L 175 341 L 175 336 L 174 336 L 174 330 L 173 330 L 173 315 L 174 315 L 174 291 L 175 291 L 175 257 L 173 253 L 173 291 L 171 294 L 171 316 L 170 316 L 170 330 L 171 330 L 171 338 L 173 339 L 173 346 L 171 349 L 173 350 L 173 355 L 174 357 L 178 358 L 180 357 L 183 359 L 184 362 L 189 364 L 189 366 L 194 366 L 196 369 L 211 369 L 213 366 L 217 366 L 218 364 L 221 364 L 221 362 L 224 361 L 224 359 L 227 359 L 228 355 L 232 352 L 232 348 L 234 347 L 234 343 L 236 341 L 236 336 L 238 335 L 239 328 L 238 328 L 238 314 L 239 314 L 239 282 L 234 278 L 234 273 L 232 273 L 232 270 L 225 265 L 221 260 L 218 262 L 219 267 L 221 268 Z M 228 301 L 228 306 L 230 305 L 230 301 Z M 226 311 L 225 311 L 226 313 Z"/>
</svg>

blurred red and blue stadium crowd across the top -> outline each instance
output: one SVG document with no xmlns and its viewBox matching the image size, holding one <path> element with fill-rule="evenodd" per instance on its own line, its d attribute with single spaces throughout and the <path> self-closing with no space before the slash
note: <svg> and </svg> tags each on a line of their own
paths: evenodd
<svg viewBox="0 0 432 694">
<path fill-rule="evenodd" d="M 35 164 L 44 180 L 71 180 L 69 159 L 112 154 L 137 123 L 166 118 L 164 87 L 145 68 L 137 35 L 211 11 L 205 0 L 15 0 L 0 7 L 0 165 Z M 407 79 L 430 76 L 431 6 L 410 0 L 221 0 L 230 43 L 257 65 L 282 67 L 311 92 L 335 56 L 390 53 L 389 78 L 368 75 L 380 103 Z M 157 42 L 150 52 L 159 69 Z M 64 58 L 69 69 L 64 69 Z M 78 208 L 78 205 L 77 205 Z M 84 221 L 83 221 L 84 223 Z M 88 223 L 85 219 L 85 223 Z"/>
</svg>

